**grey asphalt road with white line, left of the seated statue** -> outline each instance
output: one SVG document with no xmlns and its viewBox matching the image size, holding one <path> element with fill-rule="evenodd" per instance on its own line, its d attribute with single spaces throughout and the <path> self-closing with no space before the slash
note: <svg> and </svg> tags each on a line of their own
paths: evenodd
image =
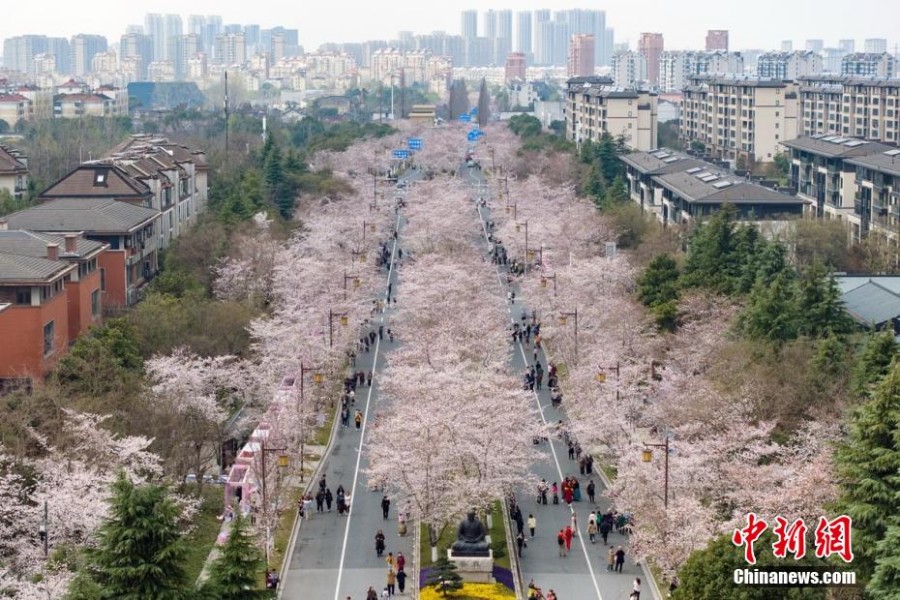
<svg viewBox="0 0 900 600">
<path fill-rule="evenodd" d="M 415 179 L 418 176 L 417 171 L 412 171 L 405 178 Z M 398 220 L 397 225 L 402 239 L 402 221 Z M 394 262 L 396 248 L 397 242 L 394 243 L 390 270 L 384 281 L 385 290 L 388 282 L 393 284 L 394 294 L 401 291 L 398 289 Z M 402 302 L 402 296 L 400 298 Z M 402 552 L 406 557 L 406 572 L 410 574 L 407 595 L 414 585 L 411 575 L 414 571 L 412 527 L 406 536 L 398 535 L 396 503 L 390 507 L 389 518 L 382 518 L 381 491 L 369 489 L 369 481 L 363 472 L 368 466 L 362 451 L 368 434 L 367 424 L 384 410 L 378 393 L 378 375 L 384 367 L 386 353 L 399 343 L 391 342 L 386 333 L 392 313 L 393 309 L 386 307 L 376 316 L 376 330 L 378 325 L 384 325 L 384 338 L 376 339 L 373 350 L 360 353 L 356 359 L 356 370 L 371 370 L 374 373 L 371 387 L 357 387 L 356 390 L 355 408 L 365 415 L 362 429 L 358 431 L 352 419 L 350 427 L 338 427 L 322 471 L 332 493 L 339 485 L 350 493 L 350 513 L 339 516 L 332 507 L 331 512 L 313 513 L 302 522 L 281 586 L 281 597 L 287 600 L 345 600 L 348 596 L 356 600 L 365 597 L 369 586 L 374 587 L 380 597 L 387 581 L 385 557 L 388 552 L 393 552 L 395 556 Z M 375 553 L 375 534 L 379 529 L 384 530 L 386 538 L 383 557 Z"/>
</svg>

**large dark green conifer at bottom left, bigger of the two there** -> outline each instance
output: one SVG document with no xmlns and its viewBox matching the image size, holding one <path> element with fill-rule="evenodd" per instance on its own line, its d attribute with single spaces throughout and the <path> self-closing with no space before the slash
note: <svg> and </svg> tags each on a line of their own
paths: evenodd
<svg viewBox="0 0 900 600">
<path fill-rule="evenodd" d="M 179 508 L 165 488 L 136 486 L 124 474 L 113 484 L 110 516 L 69 600 L 187 600 L 186 546 Z M 96 592 L 99 590 L 99 596 Z"/>
</svg>

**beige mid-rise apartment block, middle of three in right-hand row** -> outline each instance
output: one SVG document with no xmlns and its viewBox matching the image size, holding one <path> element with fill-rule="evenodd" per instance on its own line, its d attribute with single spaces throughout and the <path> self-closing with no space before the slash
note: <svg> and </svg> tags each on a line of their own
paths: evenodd
<svg viewBox="0 0 900 600">
<path fill-rule="evenodd" d="M 721 160 L 771 162 L 797 137 L 798 85 L 752 77 L 696 75 L 684 88 L 681 139 Z"/>
</svg>

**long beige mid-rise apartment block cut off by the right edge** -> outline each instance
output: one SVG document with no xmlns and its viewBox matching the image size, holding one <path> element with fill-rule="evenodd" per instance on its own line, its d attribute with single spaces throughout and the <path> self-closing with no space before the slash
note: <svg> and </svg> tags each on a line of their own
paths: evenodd
<svg viewBox="0 0 900 600">
<path fill-rule="evenodd" d="M 820 76 L 800 80 L 799 134 L 900 143 L 900 79 Z"/>
</svg>

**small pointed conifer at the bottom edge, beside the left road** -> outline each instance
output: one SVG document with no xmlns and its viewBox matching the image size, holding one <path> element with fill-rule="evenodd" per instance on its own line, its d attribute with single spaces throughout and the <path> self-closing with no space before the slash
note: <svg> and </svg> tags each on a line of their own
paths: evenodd
<svg viewBox="0 0 900 600">
<path fill-rule="evenodd" d="M 265 561 L 254 544 L 247 520 L 238 515 L 231 523 L 228 540 L 212 564 L 204 593 L 218 600 L 262 600 L 272 593 L 257 589 Z"/>
</svg>

